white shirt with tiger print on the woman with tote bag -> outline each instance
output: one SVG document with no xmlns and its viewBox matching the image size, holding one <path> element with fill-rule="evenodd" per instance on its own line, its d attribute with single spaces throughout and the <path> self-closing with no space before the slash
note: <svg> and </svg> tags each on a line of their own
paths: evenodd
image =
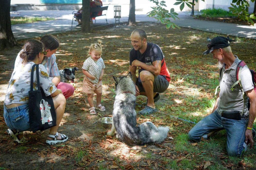
<svg viewBox="0 0 256 170">
<path fill-rule="evenodd" d="M 13 71 L 7 88 L 4 104 L 12 103 L 28 103 L 28 91 L 30 91 L 30 78 L 34 62 L 27 64 L 19 64 Z M 36 69 L 34 70 L 33 90 L 37 90 Z M 45 95 L 49 96 L 54 93 L 57 88 L 51 82 L 46 68 L 39 64 L 39 81 L 40 87 L 44 90 Z"/>
</svg>

